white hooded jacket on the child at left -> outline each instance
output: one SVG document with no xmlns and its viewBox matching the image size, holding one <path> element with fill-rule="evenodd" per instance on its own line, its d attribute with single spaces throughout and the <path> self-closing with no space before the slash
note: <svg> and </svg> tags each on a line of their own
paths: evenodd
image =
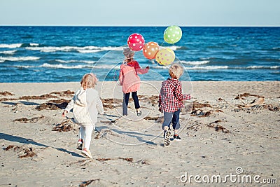
<svg viewBox="0 0 280 187">
<path fill-rule="evenodd" d="M 75 123 L 80 125 L 94 125 L 97 123 L 98 113 L 104 113 L 102 101 L 94 88 L 80 88 L 76 91 L 65 110 L 69 112 L 71 109 Z"/>
</svg>

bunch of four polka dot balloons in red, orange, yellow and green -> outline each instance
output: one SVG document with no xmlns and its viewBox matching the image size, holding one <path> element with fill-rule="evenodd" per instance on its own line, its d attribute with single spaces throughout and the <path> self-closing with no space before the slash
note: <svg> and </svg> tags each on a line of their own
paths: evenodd
<svg viewBox="0 0 280 187">
<path fill-rule="evenodd" d="M 167 43 L 174 44 L 180 41 L 182 30 L 176 25 L 172 25 L 165 29 L 163 39 Z M 131 34 L 127 39 L 127 45 L 134 51 L 143 50 L 143 55 L 149 60 L 155 59 L 161 65 L 172 64 L 175 60 L 175 53 L 170 48 L 160 48 L 158 43 L 150 41 L 145 43 L 144 37 L 141 34 Z"/>
</svg>

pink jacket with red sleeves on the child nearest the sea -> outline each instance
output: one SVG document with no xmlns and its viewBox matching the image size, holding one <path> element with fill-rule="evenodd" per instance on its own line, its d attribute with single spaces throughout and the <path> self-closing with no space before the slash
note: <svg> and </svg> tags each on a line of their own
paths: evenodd
<svg viewBox="0 0 280 187">
<path fill-rule="evenodd" d="M 140 77 L 138 74 L 146 74 L 148 69 L 141 69 L 137 61 L 120 65 L 120 85 L 123 85 L 123 92 L 137 92 L 140 88 Z"/>
</svg>

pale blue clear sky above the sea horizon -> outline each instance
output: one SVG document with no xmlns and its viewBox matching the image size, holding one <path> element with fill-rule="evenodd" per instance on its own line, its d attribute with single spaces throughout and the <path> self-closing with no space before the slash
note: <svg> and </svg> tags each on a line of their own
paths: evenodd
<svg viewBox="0 0 280 187">
<path fill-rule="evenodd" d="M 280 0 L 0 0 L 0 25 L 280 27 Z"/>
</svg>

